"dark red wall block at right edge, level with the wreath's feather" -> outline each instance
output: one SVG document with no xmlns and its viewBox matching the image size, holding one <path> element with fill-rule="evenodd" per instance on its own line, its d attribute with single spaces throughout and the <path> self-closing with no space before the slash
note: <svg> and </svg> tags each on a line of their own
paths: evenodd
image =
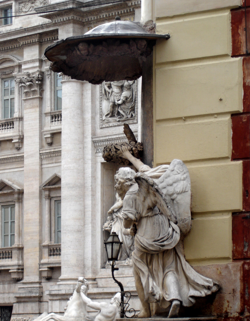
<svg viewBox="0 0 250 321">
<path fill-rule="evenodd" d="M 232 160 L 250 159 L 250 114 L 234 114 L 232 118 Z"/>
</svg>

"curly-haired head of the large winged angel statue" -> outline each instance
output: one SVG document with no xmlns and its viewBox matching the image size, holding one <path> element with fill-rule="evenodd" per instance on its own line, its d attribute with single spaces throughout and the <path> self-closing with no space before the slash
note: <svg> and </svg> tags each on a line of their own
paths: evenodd
<svg viewBox="0 0 250 321">
<path fill-rule="evenodd" d="M 127 191 L 129 190 L 129 186 L 135 184 L 135 171 L 129 167 L 121 167 L 115 175 L 115 189 L 117 194 L 124 198 Z"/>
</svg>

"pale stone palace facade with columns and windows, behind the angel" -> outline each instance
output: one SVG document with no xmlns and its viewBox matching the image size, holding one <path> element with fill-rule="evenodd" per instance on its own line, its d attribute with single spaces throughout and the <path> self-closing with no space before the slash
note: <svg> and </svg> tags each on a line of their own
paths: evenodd
<svg viewBox="0 0 250 321">
<path fill-rule="evenodd" d="M 10 8 L 13 17 L 0 26 L 0 320 L 11 310 L 12 320 L 32 320 L 62 314 L 79 276 L 90 298 L 108 301 L 119 291 L 102 230 L 118 166 L 104 162 L 102 149 L 126 141 L 124 121 L 103 126 L 102 86 L 56 76 L 44 49 L 118 14 L 140 20 L 140 1 L 1 3 Z M 140 140 L 141 80 L 133 86 L 130 127 Z M 131 264 L 118 265 L 125 289 L 135 292 Z"/>
</svg>

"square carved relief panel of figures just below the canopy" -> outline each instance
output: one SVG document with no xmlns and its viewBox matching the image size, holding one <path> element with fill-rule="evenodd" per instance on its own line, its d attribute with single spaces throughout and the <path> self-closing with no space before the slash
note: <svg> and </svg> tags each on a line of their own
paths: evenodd
<svg viewBox="0 0 250 321">
<path fill-rule="evenodd" d="M 117 121 L 135 117 L 135 81 L 114 81 L 102 83 L 103 120 L 116 117 Z"/>
</svg>

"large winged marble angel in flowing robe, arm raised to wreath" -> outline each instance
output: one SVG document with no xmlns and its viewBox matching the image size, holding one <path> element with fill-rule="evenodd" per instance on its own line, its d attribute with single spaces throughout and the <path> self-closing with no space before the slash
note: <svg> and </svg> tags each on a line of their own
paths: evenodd
<svg viewBox="0 0 250 321">
<path fill-rule="evenodd" d="M 151 169 L 132 156 L 126 145 L 121 155 L 139 171 L 120 168 L 115 175 L 115 189 L 123 200 L 123 225 L 136 233 L 132 265 L 142 306 L 138 317 L 151 317 L 149 304 L 156 302 L 170 307 L 168 317 L 177 317 L 181 305 L 192 306 L 195 297 L 219 289 L 184 258 L 183 238 L 191 229 L 188 169 L 181 160 Z"/>
</svg>

